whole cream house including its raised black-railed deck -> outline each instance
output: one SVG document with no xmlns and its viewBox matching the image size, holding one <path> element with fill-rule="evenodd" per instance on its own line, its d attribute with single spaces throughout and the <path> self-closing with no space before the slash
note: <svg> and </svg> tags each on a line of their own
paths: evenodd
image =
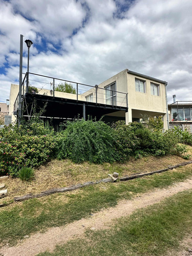
<svg viewBox="0 0 192 256">
<path fill-rule="evenodd" d="M 168 129 L 168 109 L 166 101 L 167 82 L 142 75 L 125 69 L 108 80 L 90 86 L 72 81 L 57 79 L 29 73 L 29 81 L 33 86 L 40 83 L 51 84 L 51 90 L 40 89 L 37 94 L 26 93 L 23 81 L 22 97 L 26 110 L 23 115 L 28 117 L 34 99 L 39 107 L 47 102 L 46 113 L 42 118 L 52 118 L 55 123 L 71 120 L 79 115 L 84 119 L 88 116 L 98 120 L 113 122 L 125 120 L 126 123 L 139 121 L 142 115 L 162 116 L 164 129 Z M 37 82 L 38 81 L 38 82 Z M 76 94 L 56 92 L 55 86 L 61 82 L 69 82 L 76 89 Z M 10 113 L 18 110 L 18 85 L 11 84 Z"/>
</svg>

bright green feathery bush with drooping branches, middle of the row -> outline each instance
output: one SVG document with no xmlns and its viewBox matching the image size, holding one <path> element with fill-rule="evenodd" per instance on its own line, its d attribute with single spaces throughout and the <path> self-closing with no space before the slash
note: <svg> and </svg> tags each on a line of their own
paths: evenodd
<svg viewBox="0 0 192 256">
<path fill-rule="evenodd" d="M 120 160 L 113 129 L 102 121 L 78 120 L 68 122 L 58 136 L 58 159 L 69 158 L 75 163 Z"/>
</svg>

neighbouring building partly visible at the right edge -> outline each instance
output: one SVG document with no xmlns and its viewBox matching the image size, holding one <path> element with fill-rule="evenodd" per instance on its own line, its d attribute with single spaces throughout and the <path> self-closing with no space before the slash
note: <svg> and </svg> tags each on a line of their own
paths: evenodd
<svg viewBox="0 0 192 256">
<path fill-rule="evenodd" d="M 192 132 L 192 101 L 175 101 L 168 104 L 169 126 L 179 126 Z"/>
</svg>

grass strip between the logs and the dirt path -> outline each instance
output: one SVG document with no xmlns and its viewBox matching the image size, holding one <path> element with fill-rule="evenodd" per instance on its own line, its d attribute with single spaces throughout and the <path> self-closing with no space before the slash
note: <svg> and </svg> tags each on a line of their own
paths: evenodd
<svg viewBox="0 0 192 256">
<path fill-rule="evenodd" d="M 0 211 L 1 244 L 16 243 L 32 232 L 89 217 L 90 212 L 114 206 L 120 199 L 129 199 L 138 193 L 166 187 L 191 176 L 189 165 L 129 182 L 98 184 L 13 204 Z"/>
</svg>

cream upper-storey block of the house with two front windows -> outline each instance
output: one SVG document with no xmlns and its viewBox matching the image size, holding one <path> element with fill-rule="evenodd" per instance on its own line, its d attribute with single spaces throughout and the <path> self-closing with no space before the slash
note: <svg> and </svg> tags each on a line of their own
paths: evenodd
<svg viewBox="0 0 192 256">
<path fill-rule="evenodd" d="M 167 82 L 142 75 L 130 70 L 123 70 L 117 75 L 100 83 L 99 88 L 105 89 L 105 102 L 124 104 L 126 99 L 118 92 L 127 94 L 128 111 L 112 112 L 106 116 L 123 117 L 126 123 L 139 121 L 143 116 L 162 116 L 164 129 L 168 129 L 168 109 L 166 98 Z M 111 91 L 109 91 L 111 90 Z M 113 94 L 113 90 L 114 93 Z M 84 93 L 89 95 L 90 92 Z M 95 97 L 93 93 L 93 98 Z"/>
</svg>

